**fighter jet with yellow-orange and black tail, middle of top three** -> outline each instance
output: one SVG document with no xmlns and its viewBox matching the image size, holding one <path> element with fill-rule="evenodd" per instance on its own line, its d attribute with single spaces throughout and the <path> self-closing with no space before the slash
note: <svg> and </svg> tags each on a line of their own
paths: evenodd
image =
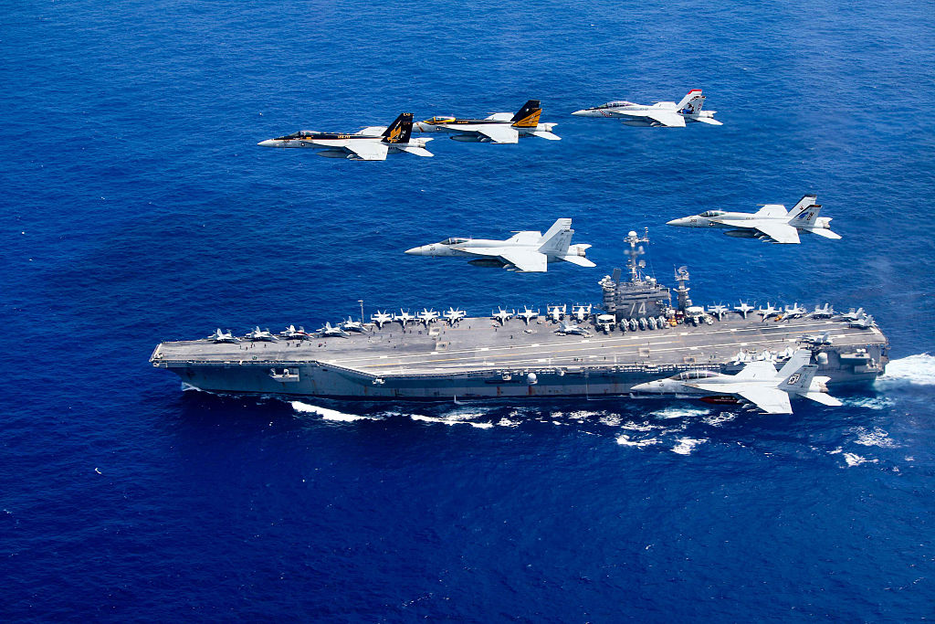
<svg viewBox="0 0 935 624">
<path fill-rule="evenodd" d="M 552 129 L 557 123 L 539 123 L 542 109 L 539 100 L 529 100 L 515 115 L 495 112 L 484 119 L 461 119 L 441 116 L 414 124 L 416 132 L 450 132 L 456 141 L 473 143 L 516 143 L 520 137 L 560 139 Z"/>
</svg>

